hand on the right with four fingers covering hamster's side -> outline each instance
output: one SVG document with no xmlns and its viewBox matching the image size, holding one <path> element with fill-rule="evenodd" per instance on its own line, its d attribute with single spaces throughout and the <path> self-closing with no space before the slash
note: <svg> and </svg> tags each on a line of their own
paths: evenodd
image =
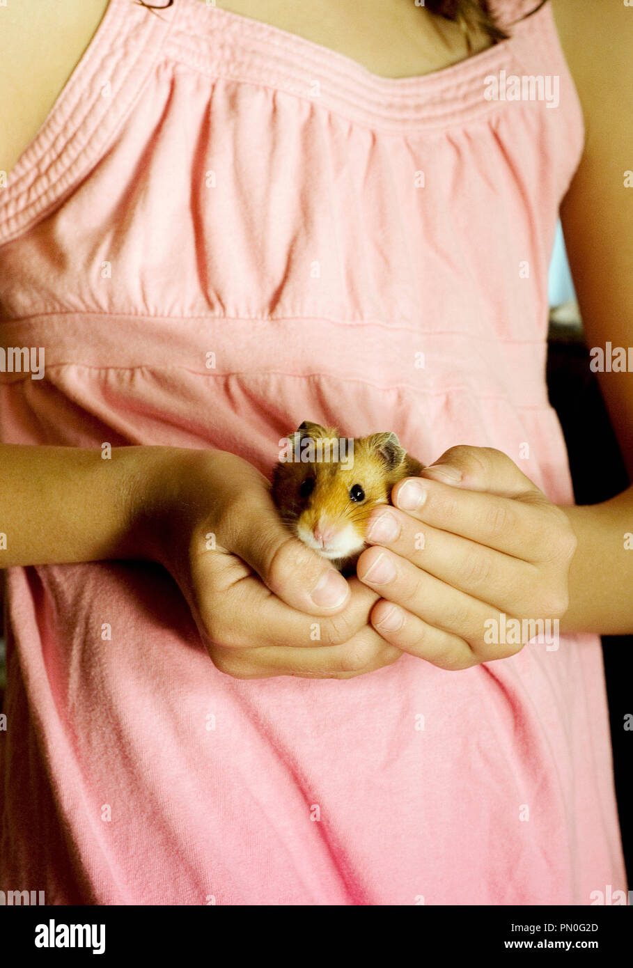
<svg viewBox="0 0 633 968">
<path fill-rule="evenodd" d="M 506 627 L 564 615 L 576 537 L 505 454 L 451 447 L 422 478 L 399 481 L 391 499 L 396 507 L 372 514 L 367 541 L 378 547 L 356 568 L 382 596 L 371 621 L 385 640 L 441 669 L 467 669 L 533 637 L 489 644 L 499 613 Z"/>
</svg>

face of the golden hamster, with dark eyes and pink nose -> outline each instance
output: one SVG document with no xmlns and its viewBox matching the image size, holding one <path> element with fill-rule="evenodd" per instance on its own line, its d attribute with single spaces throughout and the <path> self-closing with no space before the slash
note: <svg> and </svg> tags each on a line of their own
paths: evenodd
<svg viewBox="0 0 633 968">
<path fill-rule="evenodd" d="M 323 558 L 342 562 L 365 547 L 373 509 L 389 502 L 389 481 L 365 440 L 354 441 L 353 463 L 279 464 L 273 499 L 295 537 Z"/>
</svg>

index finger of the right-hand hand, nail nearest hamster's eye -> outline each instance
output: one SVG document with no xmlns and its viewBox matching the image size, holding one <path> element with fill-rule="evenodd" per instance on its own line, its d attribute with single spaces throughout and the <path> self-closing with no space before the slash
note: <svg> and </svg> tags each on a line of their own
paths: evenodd
<svg viewBox="0 0 633 968">
<path fill-rule="evenodd" d="M 417 521 L 514 558 L 535 562 L 557 554 L 554 544 L 548 543 L 544 514 L 551 514 L 554 523 L 559 511 L 547 500 L 528 503 L 499 498 L 417 477 L 399 481 L 391 499 Z"/>
</svg>

